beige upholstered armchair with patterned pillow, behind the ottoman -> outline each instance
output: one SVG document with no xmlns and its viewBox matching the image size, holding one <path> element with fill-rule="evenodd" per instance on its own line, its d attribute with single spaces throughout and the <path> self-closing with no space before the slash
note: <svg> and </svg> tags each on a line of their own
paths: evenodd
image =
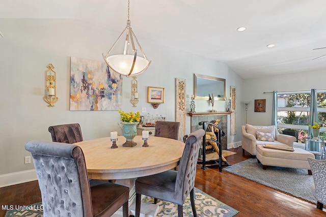
<svg viewBox="0 0 326 217">
<path fill-rule="evenodd" d="M 242 152 L 246 150 L 252 156 L 256 156 L 257 145 L 273 144 L 273 145 L 288 145 L 293 147 L 293 142 L 296 141 L 294 136 L 280 134 L 277 128 L 272 126 L 241 126 L 242 131 Z"/>
</svg>

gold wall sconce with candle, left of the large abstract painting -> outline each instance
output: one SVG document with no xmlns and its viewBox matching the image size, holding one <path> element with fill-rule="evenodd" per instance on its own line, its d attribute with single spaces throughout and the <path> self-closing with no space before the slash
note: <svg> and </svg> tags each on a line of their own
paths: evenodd
<svg viewBox="0 0 326 217">
<path fill-rule="evenodd" d="M 48 107 L 55 106 L 54 104 L 59 100 L 57 97 L 57 73 L 53 70 L 55 67 L 49 64 L 45 71 L 45 97 L 43 98 L 45 102 L 49 105 Z"/>
</svg>

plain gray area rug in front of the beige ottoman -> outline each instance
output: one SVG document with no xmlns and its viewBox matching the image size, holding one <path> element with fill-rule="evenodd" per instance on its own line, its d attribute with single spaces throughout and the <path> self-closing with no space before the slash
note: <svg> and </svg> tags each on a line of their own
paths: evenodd
<svg viewBox="0 0 326 217">
<path fill-rule="evenodd" d="M 288 195 L 316 203 L 311 193 L 314 183 L 312 175 L 306 169 L 294 169 L 268 166 L 266 170 L 257 163 L 257 159 L 248 159 L 232 166 L 223 168 L 224 171 L 261 183 Z"/>
</svg>

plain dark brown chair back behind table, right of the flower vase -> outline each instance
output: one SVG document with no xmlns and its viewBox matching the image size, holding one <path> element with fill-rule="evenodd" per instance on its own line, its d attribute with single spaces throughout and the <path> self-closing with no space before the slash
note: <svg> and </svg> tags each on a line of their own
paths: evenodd
<svg viewBox="0 0 326 217">
<path fill-rule="evenodd" d="M 180 122 L 156 121 L 154 136 L 178 140 Z"/>
</svg>

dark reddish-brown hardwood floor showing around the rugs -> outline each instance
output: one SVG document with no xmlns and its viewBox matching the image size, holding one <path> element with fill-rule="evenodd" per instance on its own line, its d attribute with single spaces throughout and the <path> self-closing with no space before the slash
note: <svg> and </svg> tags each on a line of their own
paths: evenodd
<svg viewBox="0 0 326 217">
<path fill-rule="evenodd" d="M 230 164 L 249 159 L 242 148 L 229 149 L 237 152 L 226 157 Z M 315 204 L 278 192 L 262 184 L 223 171 L 197 167 L 196 188 L 238 210 L 236 216 L 326 216 Z M 37 181 L 0 188 L 0 205 L 28 205 L 41 201 Z M 6 211 L 0 210 L 0 216 Z"/>
</svg>

